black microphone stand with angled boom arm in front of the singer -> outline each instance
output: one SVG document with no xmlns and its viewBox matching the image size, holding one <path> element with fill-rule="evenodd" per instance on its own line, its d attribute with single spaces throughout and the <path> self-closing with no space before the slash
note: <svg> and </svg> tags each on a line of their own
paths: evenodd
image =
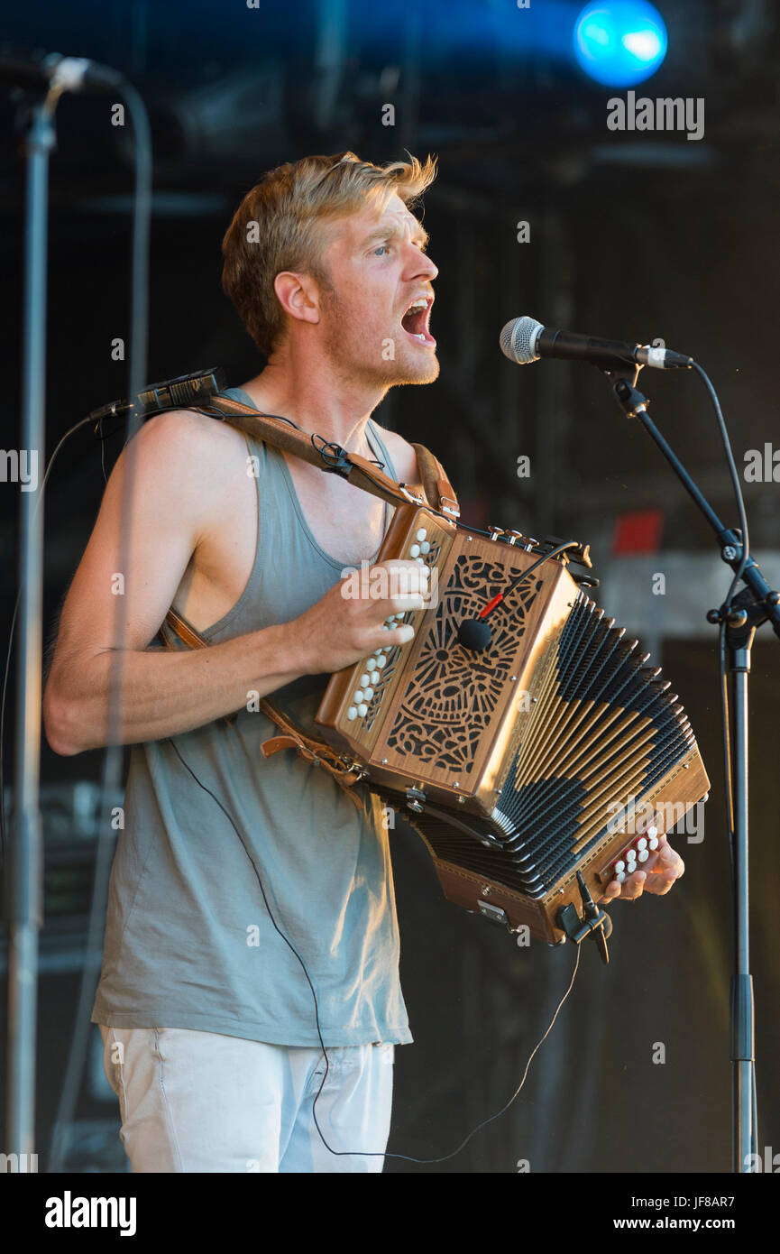
<svg viewBox="0 0 780 1254">
<path fill-rule="evenodd" d="M 677 454 L 663 439 L 647 413 L 647 398 L 637 390 L 636 382 L 642 369 L 638 365 L 611 365 L 599 367 L 612 384 L 612 394 L 627 418 L 636 418 L 671 465 L 683 488 L 698 507 L 715 533 L 721 559 L 736 573 L 742 558 L 742 539 L 739 532 L 724 527 L 720 518 L 696 487 Z M 771 622 L 780 637 L 780 593 L 766 583 L 751 557 L 741 573 L 744 588 L 724 614 L 710 609 L 707 621 L 725 626 L 729 651 L 729 672 L 734 697 L 734 736 L 725 727 L 729 741 L 729 770 L 734 781 L 727 785 L 729 833 L 734 872 L 734 973 L 731 978 L 731 1097 L 732 1139 L 731 1169 L 749 1172 L 755 1159 L 757 1141 L 757 1111 L 755 1091 L 755 1035 L 754 994 L 750 974 L 750 927 L 747 882 L 747 680 L 750 676 L 750 651 L 756 628 Z"/>
</svg>

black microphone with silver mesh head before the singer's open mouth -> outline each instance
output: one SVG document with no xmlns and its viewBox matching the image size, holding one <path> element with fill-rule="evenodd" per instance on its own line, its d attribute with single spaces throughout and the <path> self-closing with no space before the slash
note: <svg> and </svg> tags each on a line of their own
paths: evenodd
<svg viewBox="0 0 780 1254">
<path fill-rule="evenodd" d="M 606 369 L 617 362 L 635 362 L 656 370 L 690 369 L 692 357 L 671 349 L 653 349 L 650 345 L 623 344 L 621 340 L 597 340 L 592 335 L 561 331 L 554 326 L 542 326 L 533 317 L 514 317 L 502 329 L 502 352 L 518 366 L 525 366 L 539 357 L 561 357 L 567 361 L 589 361 Z"/>
</svg>

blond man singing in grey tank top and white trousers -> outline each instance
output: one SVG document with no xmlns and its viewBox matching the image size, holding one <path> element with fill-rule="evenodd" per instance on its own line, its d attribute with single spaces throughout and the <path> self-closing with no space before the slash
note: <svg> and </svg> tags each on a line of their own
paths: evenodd
<svg viewBox="0 0 780 1254">
<path fill-rule="evenodd" d="M 409 484 L 414 449 L 370 415 L 389 387 L 439 374 L 438 270 L 411 212 L 434 177 L 430 158 L 308 157 L 267 173 L 223 241 L 223 287 L 267 356 L 227 395 Z M 133 750 L 93 1021 L 133 1171 L 382 1169 L 394 1047 L 411 1035 L 381 805 L 356 785 L 356 806 L 296 754 L 263 759 L 277 729 L 256 700 L 314 729 L 334 671 L 408 642 L 385 621 L 423 604 L 419 584 L 341 594 L 391 513 L 187 410 L 147 421 L 109 478 L 44 719 L 59 754 L 107 744 L 122 572 L 118 739 Z M 162 647 L 169 607 L 208 648 Z M 681 873 L 662 840 L 607 899 Z"/>
</svg>

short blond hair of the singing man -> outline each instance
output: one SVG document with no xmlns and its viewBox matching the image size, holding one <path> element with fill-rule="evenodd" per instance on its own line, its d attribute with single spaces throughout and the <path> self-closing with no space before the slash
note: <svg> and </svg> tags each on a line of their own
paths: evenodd
<svg viewBox="0 0 780 1254">
<path fill-rule="evenodd" d="M 375 166 L 355 153 L 303 157 L 277 166 L 247 192 L 224 233 L 222 287 L 238 310 L 261 352 L 270 356 L 285 330 L 285 314 L 273 291 L 283 270 L 314 276 L 332 293 L 321 260 L 321 223 L 364 209 L 384 213 L 396 194 L 411 207 L 436 177 L 436 158 Z M 251 229 L 250 229 L 251 228 Z"/>
</svg>

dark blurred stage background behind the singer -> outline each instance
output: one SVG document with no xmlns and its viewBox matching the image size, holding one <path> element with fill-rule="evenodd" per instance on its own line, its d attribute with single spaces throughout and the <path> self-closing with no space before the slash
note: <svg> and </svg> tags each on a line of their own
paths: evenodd
<svg viewBox="0 0 780 1254">
<path fill-rule="evenodd" d="M 658 3 L 668 53 L 637 94 L 701 98 L 706 127 L 611 132 L 622 88 L 588 79 L 568 53 L 578 5 L 449 0 L 364 6 L 44 0 L 5 23 L 16 50 L 90 56 L 128 74 L 152 113 L 154 216 L 149 380 L 223 365 L 231 384 L 261 361 L 219 290 L 222 233 L 243 193 L 281 161 L 351 148 L 370 161 L 439 155 L 425 199 L 439 266 L 433 331 L 441 374 L 390 393 L 375 418 L 433 449 L 466 523 L 592 545 L 598 597 L 647 641 L 680 692 L 712 779 L 701 843 L 678 838 L 687 872 L 662 899 L 617 904 L 612 964 L 584 947 L 574 991 L 525 1088 L 458 1157 L 387 1171 L 727 1171 L 730 1166 L 730 870 L 724 819 L 715 628 L 727 587 L 693 507 L 593 370 L 518 370 L 498 349 L 513 316 L 666 344 L 710 371 L 737 466 L 777 436 L 776 247 L 779 15 L 770 3 Z M 568 28 L 566 23 L 568 21 Z M 558 39 L 556 41 L 556 31 Z M 395 124 L 382 125 L 393 103 Z M 48 446 L 92 409 L 125 395 L 129 127 L 109 98 L 65 98 L 51 168 Z M 4 446 L 19 443 L 23 163 L 14 105 L 0 93 Z M 527 222 L 529 241 L 517 240 Z M 648 377 L 652 375 L 652 377 Z M 691 374 L 645 371 L 663 431 L 726 522 L 736 524 L 722 448 Z M 122 443 L 89 429 L 65 446 L 46 493 L 45 623 L 87 543 Z M 530 475 L 518 478 L 518 458 Z M 103 465 L 102 465 L 103 461 Z M 43 470 L 43 468 L 41 468 Z M 777 470 L 780 478 L 780 469 Z M 0 485 L 4 638 L 16 594 L 18 489 Z M 745 482 L 751 543 L 780 583 L 779 483 Z M 637 540 L 636 512 L 657 543 Z M 655 523 L 653 523 L 655 519 Z M 641 523 L 641 519 L 640 519 Z M 637 524 L 637 525 L 633 525 Z M 641 528 L 640 528 L 641 529 Z M 635 537 L 633 539 L 631 537 Z M 628 537 L 628 539 L 626 538 Z M 666 593 L 648 594 L 652 573 Z M 777 1104 L 780 883 L 776 821 L 777 646 L 764 631 L 751 688 L 752 972 L 757 1001 L 759 1145 L 780 1149 Z M 6 782 L 13 765 L 6 715 Z M 84 961 L 94 841 L 89 781 L 100 755 L 44 747 L 46 924 L 40 989 L 39 1145 L 45 1156 Z M 80 789 L 80 791 L 79 791 Z M 79 818 L 80 815 L 80 818 Z M 571 946 L 518 949 L 443 900 L 428 854 L 399 821 L 393 838 L 403 984 L 415 1045 L 396 1051 L 390 1150 L 446 1154 L 504 1105 L 563 994 Z M 95 1030 L 97 1037 L 97 1030 Z M 666 1062 L 653 1050 L 666 1047 Z M 93 1038 L 68 1166 L 123 1170 L 115 1102 Z M 41 1160 L 41 1169 L 44 1162 Z"/>
</svg>

